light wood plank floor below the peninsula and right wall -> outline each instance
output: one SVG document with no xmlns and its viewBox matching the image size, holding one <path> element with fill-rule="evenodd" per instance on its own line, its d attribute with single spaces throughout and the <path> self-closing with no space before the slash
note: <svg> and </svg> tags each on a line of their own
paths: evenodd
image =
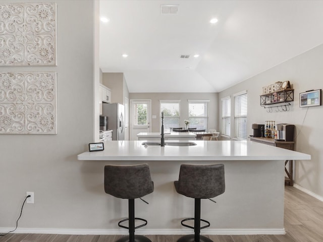
<svg viewBox="0 0 323 242">
<path fill-rule="evenodd" d="M 214 242 L 322 242 L 323 202 L 285 187 L 285 235 L 207 235 Z M 152 242 L 176 242 L 180 235 L 146 235 Z M 8 234 L 0 242 L 113 242 L 121 235 Z"/>
</svg>

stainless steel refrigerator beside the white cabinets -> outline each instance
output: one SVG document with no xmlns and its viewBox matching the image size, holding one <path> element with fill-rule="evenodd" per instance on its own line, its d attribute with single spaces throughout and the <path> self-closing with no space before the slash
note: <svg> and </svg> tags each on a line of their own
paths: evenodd
<svg viewBox="0 0 323 242">
<path fill-rule="evenodd" d="M 125 140 L 125 106 L 102 103 L 102 116 L 107 116 L 107 129 L 112 130 L 112 140 Z"/>
</svg>

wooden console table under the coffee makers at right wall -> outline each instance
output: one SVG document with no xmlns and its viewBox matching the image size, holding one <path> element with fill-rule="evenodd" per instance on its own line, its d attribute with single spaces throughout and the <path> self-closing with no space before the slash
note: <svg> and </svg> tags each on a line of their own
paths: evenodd
<svg viewBox="0 0 323 242">
<path fill-rule="evenodd" d="M 276 146 L 288 150 L 294 150 L 294 141 L 276 141 L 271 138 L 263 138 L 263 137 L 250 137 L 250 141 Z M 286 165 L 288 164 L 288 170 L 286 169 Z M 293 160 L 285 160 L 285 172 L 287 177 L 285 176 L 285 184 L 289 186 L 293 186 Z"/>
</svg>

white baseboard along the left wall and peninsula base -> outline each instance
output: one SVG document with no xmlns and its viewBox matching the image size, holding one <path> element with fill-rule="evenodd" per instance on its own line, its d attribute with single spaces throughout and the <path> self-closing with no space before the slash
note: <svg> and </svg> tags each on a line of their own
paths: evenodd
<svg viewBox="0 0 323 242">
<path fill-rule="evenodd" d="M 6 233 L 12 228 L 0 228 L 1 233 Z M 127 235 L 124 229 L 46 229 L 46 228 L 19 228 L 15 233 L 45 233 L 45 234 L 90 234 L 90 235 Z M 285 234 L 284 228 L 277 229 L 206 229 L 201 234 L 209 235 L 245 235 L 245 234 Z M 191 229 L 138 229 L 136 234 L 141 235 L 185 235 L 192 234 Z"/>
</svg>

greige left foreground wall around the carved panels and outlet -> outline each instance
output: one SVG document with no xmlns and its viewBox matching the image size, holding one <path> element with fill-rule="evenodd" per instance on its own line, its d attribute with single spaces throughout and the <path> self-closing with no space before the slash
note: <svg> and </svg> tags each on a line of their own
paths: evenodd
<svg viewBox="0 0 323 242">
<path fill-rule="evenodd" d="M 15 227 L 27 191 L 35 203 L 25 205 L 19 228 L 95 226 L 93 193 L 104 194 L 103 173 L 93 178 L 77 160 L 93 142 L 93 1 L 41 2 L 57 2 L 58 66 L 0 71 L 58 73 L 58 134 L 0 135 L 1 232 Z"/>
</svg>

